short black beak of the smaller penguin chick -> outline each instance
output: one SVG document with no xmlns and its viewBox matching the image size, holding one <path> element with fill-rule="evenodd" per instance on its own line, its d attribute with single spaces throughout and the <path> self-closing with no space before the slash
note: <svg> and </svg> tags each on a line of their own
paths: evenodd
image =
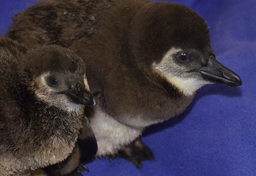
<svg viewBox="0 0 256 176">
<path fill-rule="evenodd" d="M 75 86 L 65 92 L 70 98 L 71 102 L 79 105 L 94 106 L 95 99 L 93 95 L 86 89 L 81 82 L 76 82 Z"/>
</svg>

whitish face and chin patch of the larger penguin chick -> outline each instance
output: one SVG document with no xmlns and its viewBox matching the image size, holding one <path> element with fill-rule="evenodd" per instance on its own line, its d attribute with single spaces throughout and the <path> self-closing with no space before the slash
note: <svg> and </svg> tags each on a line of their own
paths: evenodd
<svg viewBox="0 0 256 176">
<path fill-rule="evenodd" d="M 187 73 L 184 67 L 177 65 L 172 58 L 175 53 L 182 51 L 179 48 L 171 48 L 159 64 L 153 64 L 157 73 L 164 77 L 170 84 L 174 85 L 185 95 L 194 94 L 205 84 L 203 80 L 193 78 L 193 73 Z"/>
</svg>

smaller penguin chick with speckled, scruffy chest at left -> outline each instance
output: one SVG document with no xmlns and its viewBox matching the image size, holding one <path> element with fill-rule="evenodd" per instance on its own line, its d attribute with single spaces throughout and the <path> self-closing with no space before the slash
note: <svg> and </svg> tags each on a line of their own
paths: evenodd
<svg viewBox="0 0 256 176">
<path fill-rule="evenodd" d="M 0 37 L 1 175 L 31 175 L 72 153 L 84 106 L 95 105 L 85 71 L 67 48 Z"/>
</svg>

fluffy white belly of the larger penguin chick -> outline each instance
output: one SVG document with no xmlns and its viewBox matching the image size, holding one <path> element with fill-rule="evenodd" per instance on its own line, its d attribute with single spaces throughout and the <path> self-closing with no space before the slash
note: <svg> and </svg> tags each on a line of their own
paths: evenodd
<svg viewBox="0 0 256 176">
<path fill-rule="evenodd" d="M 91 128 L 98 144 L 97 157 L 114 155 L 123 146 L 139 137 L 144 128 L 133 128 L 115 120 L 99 106 L 90 119 Z"/>
</svg>

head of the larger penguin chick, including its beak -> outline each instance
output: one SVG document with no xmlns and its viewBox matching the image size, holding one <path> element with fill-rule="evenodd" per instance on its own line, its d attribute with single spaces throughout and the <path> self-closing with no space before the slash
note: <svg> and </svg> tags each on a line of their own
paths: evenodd
<svg viewBox="0 0 256 176">
<path fill-rule="evenodd" d="M 242 84 L 215 59 L 205 20 L 172 2 L 148 3 L 131 22 L 131 50 L 144 68 L 152 68 L 186 95 L 205 84 Z"/>
</svg>

